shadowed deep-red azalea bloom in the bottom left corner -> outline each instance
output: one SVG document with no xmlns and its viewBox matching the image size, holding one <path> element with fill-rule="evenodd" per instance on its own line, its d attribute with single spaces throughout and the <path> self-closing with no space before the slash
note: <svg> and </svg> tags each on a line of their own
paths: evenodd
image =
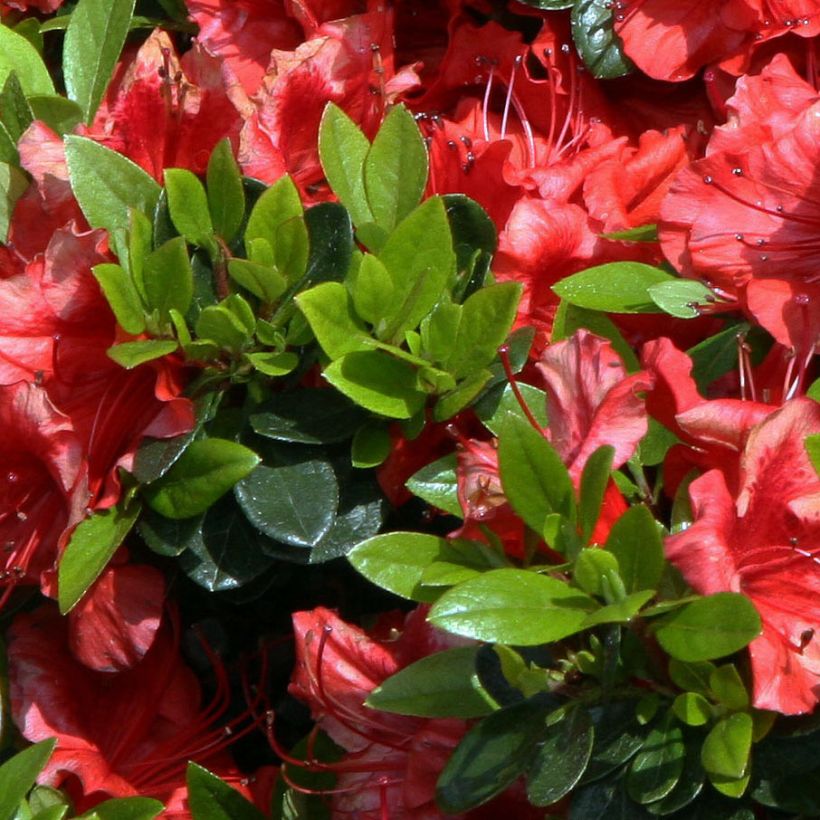
<svg viewBox="0 0 820 820">
<path fill-rule="evenodd" d="M 190 759 L 248 795 L 225 751 L 238 732 L 231 737 L 214 727 L 229 697 L 224 670 L 217 666 L 217 694 L 203 708 L 169 624 L 139 663 L 115 674 L 92 671 L 74 658 L 68 623 L 50 604 L 18 616 L 8 639 L 14 722 L 32 742 L 57 738 L 39 782 L 65 789 L 78 811 L 110 797 L 141 795 L 165 802 L 165 816 L 189 818 Z M 238 725 L 231 724 L 234 730 Z"/>
</svg>

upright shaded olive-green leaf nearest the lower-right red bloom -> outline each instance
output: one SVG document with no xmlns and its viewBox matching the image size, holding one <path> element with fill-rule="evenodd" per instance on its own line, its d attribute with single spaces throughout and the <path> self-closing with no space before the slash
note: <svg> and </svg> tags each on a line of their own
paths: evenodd
<svg viewBox="0 0 820 820">
<path fill-rule="evenodd" d="M 647 507 L 630 507 L 613 524 L 605 548 L 618 559 L 627 592 L 657 588 L 664 568 L 663 540 Z"/>
</svg>

